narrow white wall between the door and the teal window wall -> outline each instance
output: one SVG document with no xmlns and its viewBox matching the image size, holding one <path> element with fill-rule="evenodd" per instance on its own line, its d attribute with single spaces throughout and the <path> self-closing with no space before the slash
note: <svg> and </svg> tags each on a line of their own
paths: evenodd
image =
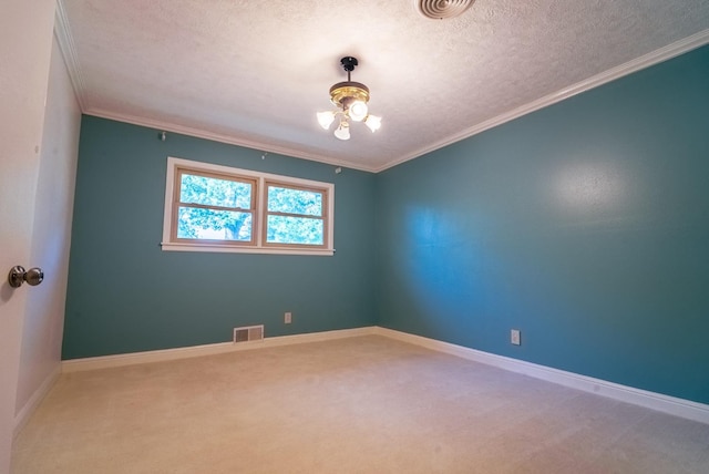
<svg viewBox="0 0 709 474">
<path fill-rule="evenodd" d="M 32 246 L 30 261 L 27 262 L 28 266 L 39 266 L 44 270 L 44 281 L 32 288 L 27 303 L 16 425 L 32 412 L 59 374 L 80 125 L 81 110 L 54 37 Z"/>
</svg>

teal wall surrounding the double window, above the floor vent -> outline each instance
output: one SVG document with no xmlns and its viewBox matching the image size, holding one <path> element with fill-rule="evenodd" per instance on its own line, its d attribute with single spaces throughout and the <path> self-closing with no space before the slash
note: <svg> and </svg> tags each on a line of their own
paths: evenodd
<svg viewBox="0 0 709 474">
<path fill-rule="evenodd" d="M 370 173 L 84 116 L 63 359 L 376 322 Z M 165 172 L 175 156 L 335 183 L 332 257 L 162 251 Z M 284 324 L 285 311 L 294 322 Z"/>
</svg>

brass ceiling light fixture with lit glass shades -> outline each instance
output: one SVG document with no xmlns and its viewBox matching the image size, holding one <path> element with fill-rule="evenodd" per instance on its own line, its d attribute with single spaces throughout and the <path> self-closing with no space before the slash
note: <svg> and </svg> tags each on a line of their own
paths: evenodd
<svg viewBox="0 0 709 474">
<path fill-rule="evenodd" d="M 351 81 L 350 73 L 357 66 L 357 58 L 345 56 L 340 60 L 347 72 L 347 81 L 338 82 L 330 87 L 330 102 L 337 107 L 335 112 L 318 112 L 318 123 L 325 130 L 329 130 L 338 114 L 342 115 L 340 125 L 335 130 L 335 136 L 339 140 L 349 140 L 349 120 L 362 122 L 374 132 L 381 125 L 381 118 L 369 115 L 369 87 L 361 82 Z M 373 117 L 370 121 L 369 117 Z M 369 122 L 369 123 L 368 123 Z"/>
</svg>

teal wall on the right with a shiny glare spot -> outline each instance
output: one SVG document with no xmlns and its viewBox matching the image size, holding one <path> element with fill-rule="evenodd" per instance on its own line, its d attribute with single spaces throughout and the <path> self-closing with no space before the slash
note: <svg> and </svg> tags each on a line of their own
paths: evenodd
<svg viewBox="0 0 709 474">
<path fill-rule="evenodd" d="M 380 326 L 709 403 L 709 47 L 377 186 Z"/>
</svg>

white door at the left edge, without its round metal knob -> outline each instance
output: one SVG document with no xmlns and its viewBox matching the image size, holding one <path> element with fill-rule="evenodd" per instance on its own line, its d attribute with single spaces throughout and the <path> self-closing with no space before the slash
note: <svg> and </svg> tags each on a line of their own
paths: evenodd
<svg viewBox="0 0 709 474">
<path fill-rule="evenodd" d="M 0 473 L 10 470 L 28 288 L 7 272 L 28 265 L 52 48 L 54 0 L 2 0 L 0 8 Z"/>
</svg>

